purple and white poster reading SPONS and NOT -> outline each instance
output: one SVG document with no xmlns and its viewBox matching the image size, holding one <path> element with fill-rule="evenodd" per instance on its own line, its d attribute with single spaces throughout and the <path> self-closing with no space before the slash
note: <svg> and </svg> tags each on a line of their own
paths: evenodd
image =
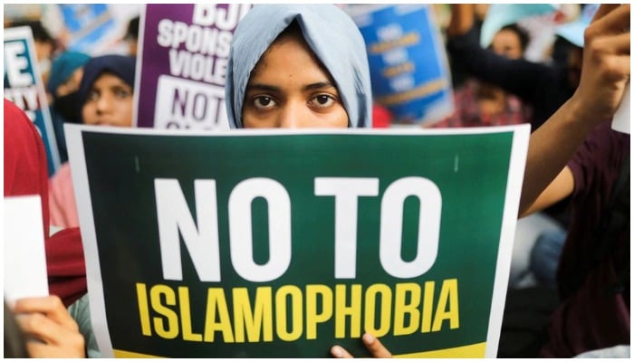
<svg viewBox="0 0 634 362">
<path fill-rule="evenodd" d="M 228 129 L 226 66 L 248 4 L 148 4 L 139 32 L 135 122 L 156 129 Z"/>
</svg>

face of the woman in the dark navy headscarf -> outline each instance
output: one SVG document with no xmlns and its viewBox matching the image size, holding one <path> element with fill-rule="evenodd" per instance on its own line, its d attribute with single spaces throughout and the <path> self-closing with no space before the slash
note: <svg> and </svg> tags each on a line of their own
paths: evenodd
<svg viewBox="0 0 634 362">
<path fill-rule="evenodd" d="M 88 91 L 82 119 L 89 125 L 131 127 L 132 88 L 114 74 L 101 74 Z"/>
</svg>

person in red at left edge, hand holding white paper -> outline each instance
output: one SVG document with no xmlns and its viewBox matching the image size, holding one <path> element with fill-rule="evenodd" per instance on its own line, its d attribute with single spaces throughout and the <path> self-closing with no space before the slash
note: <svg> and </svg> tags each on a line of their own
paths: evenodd
<svg viewBox="0 0 634 362">
<path fill-rule="evenodd" d="M 39 339 L 29 338 L 26 351 L 29 357 L 84 357 L 84 346 L 88 341 L 88 356 L 98 356 L 94 338 L 82 337 L 86 332 L 85 324 L 78 328 L 77 322 L 72 321 L 80 314 L 90 317 L 85 306 L 80 305 L 83 304 L 82 296 L 87 293 L 81 234 L 78 228 L 71 228 L 49 235 L 48 170 L 42 138 L 24 111 L 9 100 L 4 103 L 4 120 L 5 196 L 40 196 L 51 294 L 17 300 L 12 306 L 20 328 L 27 335 Z M 90 319 L 88 321 L 90 324 Z M 13 350 L 16 354 L 24 354 L 20 348 Z"/>
</svg>

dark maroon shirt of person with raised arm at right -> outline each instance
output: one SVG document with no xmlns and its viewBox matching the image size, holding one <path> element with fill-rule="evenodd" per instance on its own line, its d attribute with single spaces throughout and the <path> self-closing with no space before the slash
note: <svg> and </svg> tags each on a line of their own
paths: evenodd
<svg viewBox="0 0 634 362">
<path fill-rule="evenodd" d="M 628 152 L 629 135 L 603 122 L 568 164 L 575 185 L 571 224 L 557 275 L 562 303 L 552 314 L 550 340 L 542 357 L 573 357 L 629 345 L 629 279 L 625 292 L 610 291 L 620 275 L 629 277 L 629 217 L 605 252 L 593 236 L 600 229 L 601 214 L 610 203 Z M 629 188 L 629 182 L 625 187 Z M 603 255 L 600 260 L 598 255 Z"/>
</svg>

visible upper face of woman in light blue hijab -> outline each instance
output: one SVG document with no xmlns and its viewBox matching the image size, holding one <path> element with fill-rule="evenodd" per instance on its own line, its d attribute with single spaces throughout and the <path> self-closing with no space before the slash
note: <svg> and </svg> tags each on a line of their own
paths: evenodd
<svg viewBox="0 0 634 362">
<path fill-rule="evenodd" d="M 309 46 L 283 34 L 251 72 L 242 109 L 245 128 L 346 128 L 339 91 Z"/>
</svg>

